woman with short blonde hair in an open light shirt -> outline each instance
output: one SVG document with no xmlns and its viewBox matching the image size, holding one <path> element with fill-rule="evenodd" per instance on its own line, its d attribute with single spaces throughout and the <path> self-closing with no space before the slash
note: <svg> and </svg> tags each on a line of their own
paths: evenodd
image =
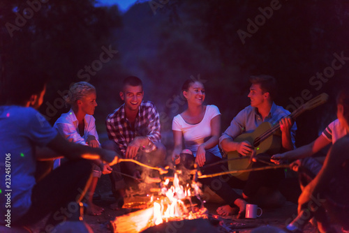
<svg viewBox="0 0 349 233">
<path fill-rule="evenodd" d="M 92 116 L 97 106 L 95 87 L 87 82 L 77 82 L 70 87 L 65 100 L 71 108 L 69 112 L 61 114 L 61 117 L 54 123 L 54 128 L 69 142 L 94 148 L 100 147 L 95 119 Z M 103 208 L 96 206 L 92 200 L 101 173 L 108 174 L 111 170 L 110 166 L 102 163 L 101 160 L 94 160 L 93 179 L 87 193 L 87 213 L 89 215 L 101 215 L 103 211 Z"/>
</svg>

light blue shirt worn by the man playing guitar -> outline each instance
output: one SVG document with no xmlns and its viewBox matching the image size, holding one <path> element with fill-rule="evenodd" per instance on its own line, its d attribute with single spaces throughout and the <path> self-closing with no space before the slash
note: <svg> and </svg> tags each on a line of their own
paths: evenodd
<svg viewBox="0 0 349 233">
<path fill-rule="evenodd" d="M 219 137 L 219 145 L 221 146 L 221 142 L 226 138 L 230 138 L 232 140 L 235 137 L 241 135 L 242 133 L 251 133 L 255 130 L 262 122 L 269 122 L 274 125 L 275 123 L 279 123 L 281 119 L 290 115 L 288 110 L 285 110 L 283 107 L 276 105 L 274 102 L 272 104 L 272 108 L 270 109 L 269 114 L 265 117 L 265 120 L 262 121 L 262 116 L 258 112 L 257 107 L 252 107 L 249 105 L 245 107 L 244 110 L 239 112 L 232 122 L 230 126 L 225 130 L 225 132 Z M 291 140 L 293 144 L 293 148 L 295 148 L 295 134 L 296 134 L 297 126 L 296 123 L 293 123 L 291 128 Z"/>
</svg>

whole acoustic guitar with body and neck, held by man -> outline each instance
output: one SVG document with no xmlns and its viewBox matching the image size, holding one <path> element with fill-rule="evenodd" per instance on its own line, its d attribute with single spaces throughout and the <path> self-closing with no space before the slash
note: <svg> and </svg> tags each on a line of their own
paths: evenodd
<svg viewBox="0 0 349 233">
<path fill-rule="evenodd" d="M 306 110 L 312 110 L 314 107 L 322 105 L 327 101 L 327 99 L 327 93 L 322 93 L 304 103 L 304 105 L 293 111 L 290 115 L 288 115 L 288 117 L 294 121 L 295 118 L 300 114 Z M 252 133 L 242 133 L 236 137 L 234 142 L 249 142 L 253 146 L 253 150 L 255 150 L 256 155 L 259 153 L 279 153 L 281 149 L 281 131 L 279 128 L 279 123 L 272 125 L 269 122 L 263 122 Z M 239 154 L 237 151 L 228 152 L 228 168 L 230 171 L 251 168 L 252 161 L 248 159 L 248 157 L 246 157 L 246 159 L 237 159 L 242 157 L 244 156 Z M 248 179 L 249 172 L 241 172 L 233 175 L 242 181 L 246 181 Z"/>
</svg>

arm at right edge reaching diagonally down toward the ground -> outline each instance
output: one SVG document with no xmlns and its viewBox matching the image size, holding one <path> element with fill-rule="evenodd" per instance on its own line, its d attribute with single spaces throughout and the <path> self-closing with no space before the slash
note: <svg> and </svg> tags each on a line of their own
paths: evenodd
<svg viewBox="0 0 349 233">
<path fill-rule="evenodd" d="M 336 170 L 349 160 L 349 137 L 343 137 L 338 140 L 327 153 L 325 163 L 315 176 L 315 179 L 306 186 L 299 196 L 299 206 L 309 202 L 311 197 L 318 197 L 318 194 L 324 190 L 332 180 Z"/>
</svg>

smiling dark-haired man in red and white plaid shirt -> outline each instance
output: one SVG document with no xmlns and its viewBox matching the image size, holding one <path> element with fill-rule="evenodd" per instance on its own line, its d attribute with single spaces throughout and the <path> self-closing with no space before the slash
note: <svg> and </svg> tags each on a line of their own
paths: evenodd
<svg viewBox="0 0 349 233">
<path fill-rule="evenodd" d="M 149 165 L 162 165 L 165 146 L 160 142 L 159 114 L 154 103 L 142 101 L 142 81 L 138 77 L 126 77 L 119 94 L 124 104 L 107 116 L 110 141 L 103 147 L 117 151 L 122 158 L 133 158 Z M 121 163 L 113 167 L 110 180 L 117 202 L 110 206 L 112 209 L 119 209 L 123 204 L 125 182 L 119 174 L 120 169 L 135 179 L 140 178 L 140 167 L 135 163 Z"/>
</svg>

